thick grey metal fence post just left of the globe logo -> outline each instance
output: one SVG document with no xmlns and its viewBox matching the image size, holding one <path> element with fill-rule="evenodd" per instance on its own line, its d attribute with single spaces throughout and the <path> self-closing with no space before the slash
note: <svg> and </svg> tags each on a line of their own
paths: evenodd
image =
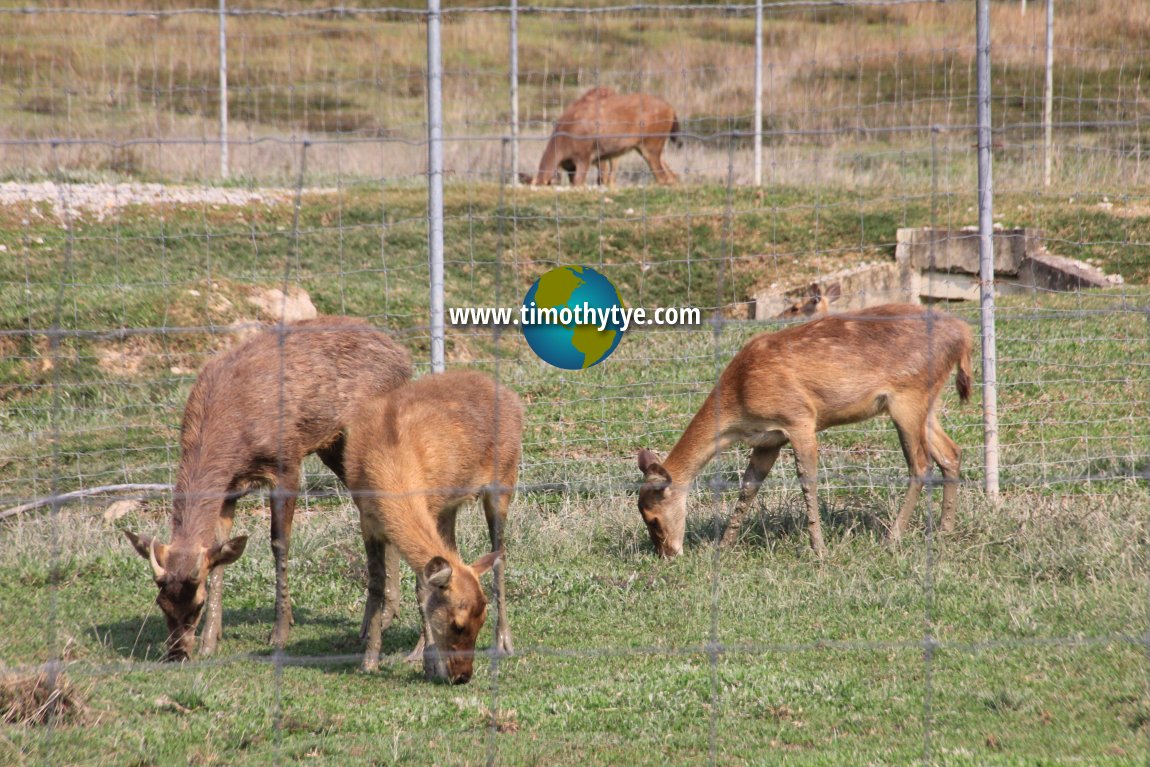
<svg viewBox="0 0 1150 767">
<path fill-rule="evenodd" d="M 444 370 L 443 308 L 443 49 L 439 0 L 428 0 L 428 268 L 431 371 Z"/>
</svg>

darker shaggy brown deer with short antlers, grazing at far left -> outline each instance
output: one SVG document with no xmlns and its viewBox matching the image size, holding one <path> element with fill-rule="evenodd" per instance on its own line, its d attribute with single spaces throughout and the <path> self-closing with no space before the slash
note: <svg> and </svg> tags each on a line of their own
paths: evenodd
<svg viewBox="0 0 1150 767">
<path fill-rule="evenodd" d="M 167 660 L 184 660 L 195 644 L 205 603 L 200 654 L 215 651 L 222 626 L 223 570 L 247 544 L 231 538 L 236 501 L 256 485 L 271 490 L 271 551 L 276 560 L 276 623 L 283 646 L 291 626 L 288 551 L 300 462 L 315 453 L 340 480 L 343 431 L 353 406 L 408 381 L 407 350 L 362 320 L 319 317 L 263 330 L 204 366 L 184 408 L 181 459 L 172 493 L 171 543 L 124 535 L 152 563 L 168 621 Z M 368 565 L 383 552 L 368 552 Z M 208 580 L 210 577 L 210 589 Z M 368 596 L 398 608 L 399 573 Z"/>
</svg>

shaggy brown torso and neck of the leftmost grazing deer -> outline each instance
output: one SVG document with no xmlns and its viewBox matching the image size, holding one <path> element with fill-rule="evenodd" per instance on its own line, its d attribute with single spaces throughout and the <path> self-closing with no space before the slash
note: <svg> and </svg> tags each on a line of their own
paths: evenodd
<svg viewBox="0 0 1150 767">
<path fill-rule="evenodd" d="M 210 539 L 228 491 L 337 440 L 354 405 L 411 378 L 411 354 L 353 317 L 269 328 L 204 366 L 181 427 L 172 535 L 202 517 Z"/>
</svg>

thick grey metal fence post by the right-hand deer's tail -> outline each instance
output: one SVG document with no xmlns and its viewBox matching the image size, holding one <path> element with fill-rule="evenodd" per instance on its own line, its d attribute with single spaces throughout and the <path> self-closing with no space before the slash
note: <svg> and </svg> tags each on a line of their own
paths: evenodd
<svg viewBox="0 0 1150 767">
<path fill-rule="evenodd" d="M 990 158 L 990 0 L 979 0 L 979 284 L 982 301 L 982 432 L 986 490 L 998 499 L 998 390 L 995 351 L 994 179 Z"/>
</svg>

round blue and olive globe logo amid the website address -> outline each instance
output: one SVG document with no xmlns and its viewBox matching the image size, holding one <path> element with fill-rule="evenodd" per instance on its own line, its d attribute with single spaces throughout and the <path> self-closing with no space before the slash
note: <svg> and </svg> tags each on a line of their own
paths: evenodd
<svg viewBox="0 0 1150 767">
<path fill-rule="evenodd" d="M 622 308 L 619 291 L 595 269 L 557 267 L 527 291 L 520 325 L 540 360 L 582 370 L 603 362 L 619 346 Z"/>
</svg>

